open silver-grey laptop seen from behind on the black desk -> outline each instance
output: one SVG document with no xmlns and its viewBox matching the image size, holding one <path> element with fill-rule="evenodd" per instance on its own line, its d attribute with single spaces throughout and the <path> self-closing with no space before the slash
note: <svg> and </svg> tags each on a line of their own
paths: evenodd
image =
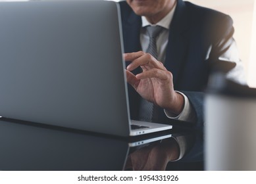
<svg viewBox="0 0 256 184">
<path fill-rule="evenodd" d="M 131 128 L 116 3 L 5 2 L 0 25 L 0 116 L 120 136 L 172 128 Z"/>
</svg>

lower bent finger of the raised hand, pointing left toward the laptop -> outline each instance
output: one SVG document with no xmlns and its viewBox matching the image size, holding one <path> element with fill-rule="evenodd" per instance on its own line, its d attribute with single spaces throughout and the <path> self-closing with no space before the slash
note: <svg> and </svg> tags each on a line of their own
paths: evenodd
<svg viewBox="0 0 256 184">
<path fill-rule="evenodd" d="M 138 80 L 157 78 L 159 80 L 172 80 L 172 74 L 168 71 L 153 68 L 136 75 Z"/>
</svg>

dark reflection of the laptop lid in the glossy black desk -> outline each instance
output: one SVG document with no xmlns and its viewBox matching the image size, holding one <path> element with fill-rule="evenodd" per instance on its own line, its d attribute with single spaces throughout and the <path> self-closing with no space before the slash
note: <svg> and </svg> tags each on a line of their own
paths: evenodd
<svg viewBox="0 0 256 184">
<path fill-rule="evenodd" d="M 130 141 L 0 118 L 0 170 L 123 170 Z"/>
</svg>

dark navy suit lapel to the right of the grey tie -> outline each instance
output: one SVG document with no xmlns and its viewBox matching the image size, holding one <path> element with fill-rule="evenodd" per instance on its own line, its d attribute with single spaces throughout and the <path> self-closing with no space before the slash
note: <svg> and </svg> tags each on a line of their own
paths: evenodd
<svg viewBox="0 0 256 184">
<path fill-rule="evenodd" d="M 185 3 L 182 0 L 177 0 L 166 48 L 165 66 L 172 72 L 174 86 L 178 84 L 187 58 L 184 53 L 187 53 L 188 50 L 189 22 L 185 9 Z"/>
</svg>

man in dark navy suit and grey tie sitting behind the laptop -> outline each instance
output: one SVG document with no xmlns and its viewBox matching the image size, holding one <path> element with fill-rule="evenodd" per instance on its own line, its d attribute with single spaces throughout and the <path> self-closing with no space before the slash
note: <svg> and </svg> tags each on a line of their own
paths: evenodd
<svg viewBox="0 0 256 184">
<path fill-rule="evenodd" d="M 132 118 L 141 119 L 141 104 L 148 101 L 157 108 L 152 121 L 184 120 L 190 123 L 174 125 L 203 132 L 202 91 L 211 71 L 243 82 L 230 16 L 182 0 L 126 0 L 120 2 L 120 9 Z M 157 58 L 147 53 L 149 26 L 162 28 L 155 35 Z M 202 160 L 202 137 L 195 137 L 193 143 L 174 137 L 166 161 Z"/>
</svg>

